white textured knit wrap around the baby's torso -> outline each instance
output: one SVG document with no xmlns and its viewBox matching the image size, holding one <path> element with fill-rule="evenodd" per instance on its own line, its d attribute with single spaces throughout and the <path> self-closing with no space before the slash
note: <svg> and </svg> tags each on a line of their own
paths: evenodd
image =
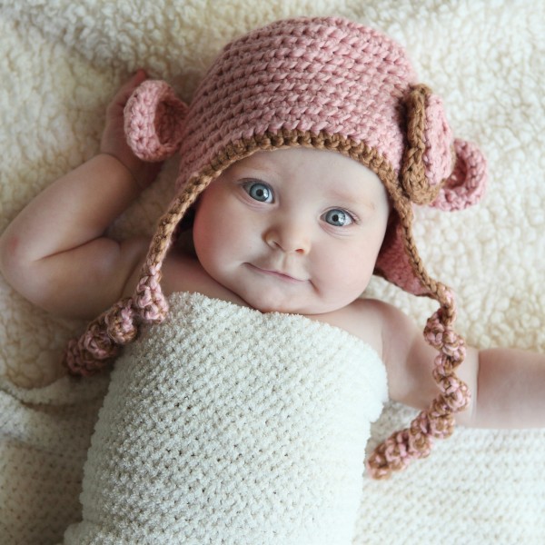
<svg viewBox="0 0 545 545">
<path fill-rule="evenodd" d="M 385 369 L 352 335 L 176 293 L 116 362 L 66 543 L 350 543 Z"/>
</svg>

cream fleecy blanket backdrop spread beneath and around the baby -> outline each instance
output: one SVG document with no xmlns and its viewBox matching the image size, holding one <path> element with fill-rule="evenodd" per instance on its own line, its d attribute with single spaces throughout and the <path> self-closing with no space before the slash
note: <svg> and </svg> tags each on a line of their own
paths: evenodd
<svg viewBox="0 0 545 545">
<path fill-rule="evenodd" d="M 0 8 L 0 229 L 96 153 L 104 107 L 137 67 L 189 100 L 234 36 L 291 15 L 344 15 L 405 45 L 421 82 L 444 98 L 454 133 L 488 156 L 480 206 L 418 213 L 424 263 L 459 294 L 459 331 L 483 348 L 545 351 L 545 3 L 4 0 Z M 172 196 L 173 169 L 166 165 L 118 233 L 152 229 Z M 369 292 L 422 326 L 433 310 L 379 280 Z M 53 543 L 79 516 L 84 452 L 107 377 L 55 381 L 58 353 L 82 324 L 36 310 L 1 278 L 0 308 L 1 540 Z M 410 416 L 389 406 L 372 442 Z M 356 544 L 544 543 L 545 431 L 460 429 L 391 481 L 366 479 L 363 493 Z"/>
</svg>

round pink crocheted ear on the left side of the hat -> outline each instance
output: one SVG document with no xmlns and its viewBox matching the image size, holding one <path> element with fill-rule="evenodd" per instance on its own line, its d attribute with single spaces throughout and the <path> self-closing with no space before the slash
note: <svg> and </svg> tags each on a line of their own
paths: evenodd
<svg viewBox="0 0 545 545">
<path fill-rule="evenodd" d="M 134 154 L 144 161 L 163 161 L 182 141 L 184 104 L 163 81 L 146 80 L 124 108 L 124 132 Z"/>
</svg>

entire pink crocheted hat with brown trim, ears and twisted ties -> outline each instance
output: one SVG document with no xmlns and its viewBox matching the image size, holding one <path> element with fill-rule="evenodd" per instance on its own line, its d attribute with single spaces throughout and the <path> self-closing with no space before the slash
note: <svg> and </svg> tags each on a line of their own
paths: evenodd
<svg viewBox="0 0 545 545">
<path fill-rule="evenodd" d="M 161 322 L 167 304 L 161 267 L 176 226 L 200 193 L 232 163 L 260 150 L 307 146 L 351 157 L 377 173 L 390 194 L 392 221 L 376 271 L 440 303 L 426 326 L 439 351 L 441 395 L 370 461 L 381 477 L 427 455 L 431 437 L 451 433 L 467 403 L 454 369 L 463 342 L 452 332 L 451 291 L 433 280 L 412 236 L 413 206 L 458 210 L 481 197 L 486 163 L 472 144 L 453 139 L 441 104 L 418 84 L 400 45 L 341 18 L 279 21 L 226 45 L 187 106 L 161 81 L 145 81 L 125 108 L 134 153 L 162 161 L 179 151 L 177 195 L 164 214 L 134 296 L 104 312 L 71 343 L 72 372 L 91 374 L 130 342 L 142 322 Z"/>
</svg>

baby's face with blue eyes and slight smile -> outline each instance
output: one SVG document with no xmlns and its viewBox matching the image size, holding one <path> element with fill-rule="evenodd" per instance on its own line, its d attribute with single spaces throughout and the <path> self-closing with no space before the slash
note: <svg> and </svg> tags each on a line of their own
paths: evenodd
<svg viewBox="0 0 545 545">
<path fill-rule="evenodd" d="M 203 193 L 193 241 L 204 270 L 251 307 L 319 314 L 365 290 L 389 212 L 377 175 L 352 159 L 260 152 Z"/>
</svg>

